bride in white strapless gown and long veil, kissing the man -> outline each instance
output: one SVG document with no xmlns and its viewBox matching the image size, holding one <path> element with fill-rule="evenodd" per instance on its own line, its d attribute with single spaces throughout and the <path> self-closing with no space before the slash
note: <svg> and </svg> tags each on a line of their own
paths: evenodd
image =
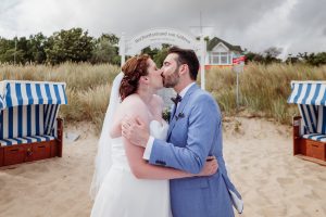
<svg viewBox="0 0 326 217">
<path fill-rule="evenodd" d="M 152 166 L 142 159 L 143 149 L 122 138 L 122 119 L 138 117 L 154 138 L 165 140 L 168 125 L 162 118 L 162 71 L 147 54 L 129 59 L 115 78 L 104 119 L 91 184 L 92 217 L 168 217 L 168 179 L 192 177 L 186 171 Z M 216 161 L 197 176 L 210 176 Z"/>
</svg>

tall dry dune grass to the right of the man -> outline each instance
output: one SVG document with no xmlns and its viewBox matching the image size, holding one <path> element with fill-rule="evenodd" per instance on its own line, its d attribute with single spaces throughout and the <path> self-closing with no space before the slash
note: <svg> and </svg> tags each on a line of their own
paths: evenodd
<svg viewBox="0 0 326 217">
<path fill-rule="evenodd" d="M 291 80 L 325 80 L 326 66 L 249 64 L 239 74 L 239 105 L 251 115 L 275 118 L 290 124 L 296 105 L 289 105 Z M 217 100 L 221 110 L 228 115 L 236 113 L 236 73 L 231 68 L 206 72 L 206 89 Z"/>
</svg>

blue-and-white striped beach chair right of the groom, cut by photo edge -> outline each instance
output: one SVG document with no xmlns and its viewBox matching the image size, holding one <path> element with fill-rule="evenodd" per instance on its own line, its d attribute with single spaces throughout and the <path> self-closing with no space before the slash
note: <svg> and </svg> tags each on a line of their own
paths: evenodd
<svg viewBox="0 0 326 217">
<path fill-rule="evenodd" d="M 298 104 L 293 117 L 293 155 L 326 161 L 326 81 L 291 81 L 288 103 Z"/>
</svg>

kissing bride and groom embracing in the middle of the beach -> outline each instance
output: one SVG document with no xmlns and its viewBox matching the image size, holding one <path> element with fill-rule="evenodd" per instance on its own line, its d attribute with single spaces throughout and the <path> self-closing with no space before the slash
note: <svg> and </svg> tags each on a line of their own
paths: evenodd
<svg viewBox="0 0 326 217">
<path fill-rule="evenodd" d="M 172 47 L 162 68 L 130 58 L 113 81 L 91 184 L 92 217 L 233 217 L 240 194 L 223 158 L 222 116 L 196 85 L 193 50 Z M 174 88 L 170 122 L 156 91 Z"/>
</svg>

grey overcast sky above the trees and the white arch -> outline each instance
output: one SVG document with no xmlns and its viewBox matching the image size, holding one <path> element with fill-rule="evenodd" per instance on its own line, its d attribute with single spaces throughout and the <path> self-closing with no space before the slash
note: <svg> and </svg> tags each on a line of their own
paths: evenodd
<svg viewBox="0 0 326 217">
<path fill-rule="evenodd" d="M 204 35 L 261 52 L 326 51 L 326 0 L 0 0 L 0 36 L 46 36 L 82 27 L 133 37 L 154 27 Z"/>
</svg>

